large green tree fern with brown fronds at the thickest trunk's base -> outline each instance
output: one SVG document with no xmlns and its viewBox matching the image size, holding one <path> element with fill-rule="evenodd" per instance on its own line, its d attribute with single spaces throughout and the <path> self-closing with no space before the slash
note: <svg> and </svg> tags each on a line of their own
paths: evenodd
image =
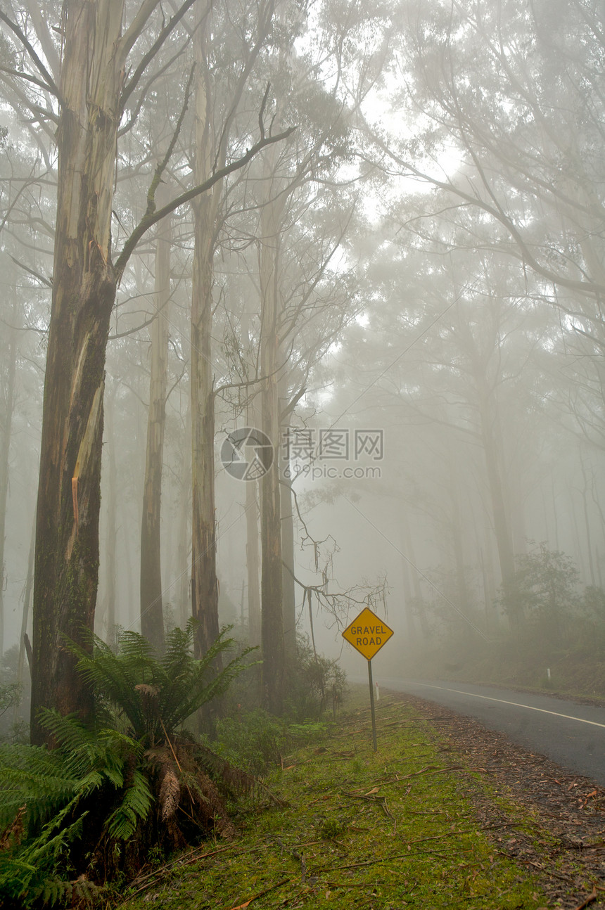
<svg viewBox="0 0 605 910">
<path fill-rule="evenodd" d="M 68 643 L 96 693 L 96 716 L 86 725 L 44 711 L 40 721 L 54 750 L 0 747 L 0 826 L 8 825 L 9 844 L 0 850 L 0 894 L 24 905 L 76 899 L 76 884 L 66 878 L 93 869 L 101 878 L 135 872 L 158 832 L 168 849 L 204 830 L 233 834 L 221 792 L 249 789 L 252 778 L 181 727 L 227 689 L 247 651 L 217 672 L 217 657 L 233 645 L 228 630 L 197 660 L 194 628 L 190 621 L 170 632 L 161 657 L 136 632 L 122 633 L 116 653 L 96 636 L 88 642 L 92 653 Z"/>
</svg>

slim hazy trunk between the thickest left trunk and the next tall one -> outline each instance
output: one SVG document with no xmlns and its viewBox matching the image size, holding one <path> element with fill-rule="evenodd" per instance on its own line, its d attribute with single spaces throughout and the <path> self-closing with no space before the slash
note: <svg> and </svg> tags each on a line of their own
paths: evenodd
<svg viewBox="0 0 605 910">
<path fill-rule="evenodd" d="M 141 521 L 141 633 L 158 653 L 164 651 L 165 644 L 160 531 L 166 426 L 170 245 L 170 218 L 166 217 L 160 222 L 156 236 L 154 305 L 157 311 L 151 326 L 151 377 Z"/>
</svg>

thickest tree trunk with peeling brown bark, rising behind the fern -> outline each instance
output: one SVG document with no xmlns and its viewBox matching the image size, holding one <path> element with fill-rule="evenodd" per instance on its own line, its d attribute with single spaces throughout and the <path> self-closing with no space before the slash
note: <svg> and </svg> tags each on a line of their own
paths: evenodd
<svg viewBox="0 0 605 910">
<path fill-rule="evenodd" d="M 45 372 L 37 501 L 32 742 L 43 705 L 86 719 L 92 693 L 64 635 L 86 644 L 98 575 L 103 390 L 116 296 L 110 227 L 119 95 L 132 33 L 123 0 L 68 0 L 53 298 Z"/>
</svg>

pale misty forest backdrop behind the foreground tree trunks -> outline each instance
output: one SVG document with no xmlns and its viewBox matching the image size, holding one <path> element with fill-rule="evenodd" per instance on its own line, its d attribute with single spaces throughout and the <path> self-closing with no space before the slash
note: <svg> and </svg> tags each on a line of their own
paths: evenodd
<svg viewBox="0 0 605 910">
<path fill-rule="evenodd" d="M 52 69 L 61 6 L 9 7 Z M 170 9 L 156 11 L 156 25 Z M 194 12 L 126 107 L 113 248 L 143 215 L 156 162 L 176 135 Z M 205 78 L 218 137 L 266 15 L 247 0 L 213 7 Z M 590 663 L 595 690 L 605 684 L 604 35 L 602 5 L 590 0 L 275 5 L 227 157 L 250 145 L 264 97 L 267 122 L 296 128 L 227 178 L 212 236 L 219 620 L 242 637 L 255 642 L 258 481 L 232 477 L 221 447 L 237 428 L 259 426 L 260 289 L 271 247 L 274 454 L 282 490 L 294 477 L 282 504 L 292 516 L 295 579 L 284 588 L 297 632 L 364 672 L 340 632 L 368 605 L 395 631 L 375 674 L 525 672 L 539 684 L 547 667 L 568 661 Z M 142 35 L 142 53 L 152 37 Z M 55 101 L 22 77 L 26 57 L 5 29 L 0 611 L 11 666 L 31 629 L 57 167 Z M 195 121 L 192 102 L 163 176 L 172 196 L 195 168 Z M 106 639 L 114 625 L 140 629 L 160 322 L 162 606 L 168 625 L 191 613 L 193 211 L 177 208 L 140 240 L 111 317 L 96 600 Z"/>
</svg>

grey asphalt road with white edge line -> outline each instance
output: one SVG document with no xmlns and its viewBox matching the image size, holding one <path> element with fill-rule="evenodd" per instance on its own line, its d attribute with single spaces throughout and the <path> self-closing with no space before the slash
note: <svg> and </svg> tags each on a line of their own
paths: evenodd
<svg viewBox="0 0 605 910">
<path fill-rule="evenodd" d="M 506 733 L 529 752 L 548 755 L 573 773 L 605 786 L 605 707 L 471 685 L 375 677 L 381 687 L 418 695 Z"/>
</svg>

